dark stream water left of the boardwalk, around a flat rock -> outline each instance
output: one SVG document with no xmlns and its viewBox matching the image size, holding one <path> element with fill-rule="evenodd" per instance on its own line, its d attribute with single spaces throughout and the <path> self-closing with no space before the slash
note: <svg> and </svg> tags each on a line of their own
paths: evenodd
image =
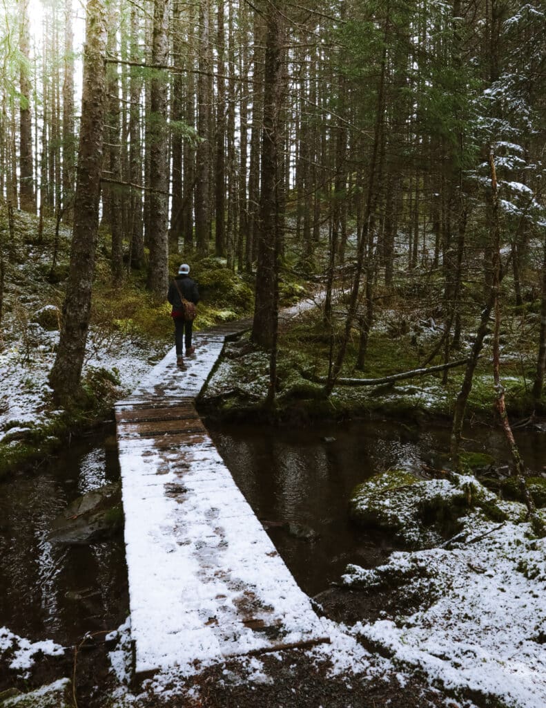
<svg viewBox="0 0 546 708">
<path fill-rule="evenodd" d="M 113 427 L 72 442 L 36 472 L 0 483 L 0 627 L 72 644 L 115 629 L 128 614 L 122 534 L 87 546 L 47 540 L 51 523 L 81 494 L 119 479 L 104 440 Z"/>
</svg>

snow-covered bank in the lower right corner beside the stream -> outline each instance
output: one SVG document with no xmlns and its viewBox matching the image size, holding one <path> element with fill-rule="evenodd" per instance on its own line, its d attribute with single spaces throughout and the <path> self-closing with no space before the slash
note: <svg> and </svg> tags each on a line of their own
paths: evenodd
<svg viewBox="0 0 546 708">
<path fill-rule="evenodd" d="M 472 524 L 472 537 L 492 531 Z M 373 586 L 378 574 L 426 569 L 438 597 L 412 615 L 353 628 L 402 666 L 423 670 L 455 692 L 495 696 L 514 708 L 546 705 L 546 540 L 526 523 L 506 522 L 453 550 L 395 552 L 381 569 L 353 566 L 344 579 Z M 407 579 L 411 592 L 423 578 Z"/>
</svg>

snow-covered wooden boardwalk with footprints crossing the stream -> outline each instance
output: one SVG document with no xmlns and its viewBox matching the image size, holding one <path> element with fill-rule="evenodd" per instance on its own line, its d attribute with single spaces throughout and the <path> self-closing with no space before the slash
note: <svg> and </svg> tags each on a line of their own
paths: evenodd
<svg viewBox="0 0 546 708">
<path fill-rule="evenodd" d="M 194 408 L 248 324 L 197 333 L 185 370 L 171 351 L 115 406 L 137 674 L 327 641 Z"/>
</svg>

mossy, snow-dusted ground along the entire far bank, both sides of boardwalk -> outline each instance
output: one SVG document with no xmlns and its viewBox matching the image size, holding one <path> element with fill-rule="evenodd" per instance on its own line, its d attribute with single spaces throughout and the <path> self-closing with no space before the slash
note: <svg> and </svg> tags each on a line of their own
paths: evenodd
<svg viewBox="0 0 546 708">
<path fill-rule="evenodd" d="M 6 215 L 0 209 L 0 228 L 6 231 Z M 97 251 L 89 356 L 83 381 L 83 397 L 74 409 L 56 412 L 47 389 L 47 370 L 54 358 L 69 263 L 70 232 L 62 227 L 57 262 L 54 253 L 54 222 L 45 220 L 41 235 L 37 219 L 16 212 L 15 239 L 6 253 L 4 317 L 0 341 L 1 374 L 18 369 L 18 396 L 36 399 L 35 416 L 21 416 L 13 406 L 11 391 L 0 394 L 0 435 L 10 428 L 23 427 L 23 439 L 8 436 L 0 440 L 0 474 L 13 464 L 31 459 L 47 450 L 69 431 L 93 424 L 109 415 L 112 401 L 131 387 L 132 362 L 151 366 L 172 345 L 170 307 L 165 299 L 146 290 L 146 269 L 126 269 L 120 285 L 112 285 L 110 236 L 100 232 Z M 350 250 L 350 249 L 349 249 Z M 324 251 L 325 252 L 325 251 Z M 314 263 L 302 263 L 297 249 L 287 248 L 281 267 L 281 304 L 288 305 L 308 293 L 320 290 L 311 286 L 310 276 L 323 272 L 321 249 Z M 349 258 L 350 253 L 348 252 Z M 222 321 L 252 314 L 254 275 L 233 273 L 226 261 L 202 257 L 192 251 L 174 253 L 169 259 L 170 273 L 187 261 L 191 275 L 199 283 L 202 302 L 195 329 L 206 329 Z M 349 280 L 340 278 L 337 287 L 347 292 Z M 462 335 L 451 358 L 469 353 L 477 326 L 480 283 L 464 284 L 465 307 L 461 311 Z M 352 329 L 342 377 L 379 378 L 420 367 L 434 350 L 443 328 L 442 281 L 438 276 L 422 278 L 419 273 L 400 270 L 397 282 L 386 290 L 376 287 L 373 327 L 368 341 L 364 367 L 356 368 L 359 352 L 357 323 Z M 528 302 L 514 307 L 510 278 L 503 285 L 501 326 L 501 377 L 506 404 L 512 418 L 546 410 L 545 400 L 537 405 L 530 396 L 537 338 L 540 324 L 538 300 L 530 289 Z M 533 297 L 531 297 L 533 296 Z M 265 409 L 269 385 L 269 354 L 248 341 L 228 346 L 226 358 L 216 370 L 201 404 L 216 416 L 262 416 L 270 420 L 306 423 L 316 418 L 339 420 L 359 416 L 390 416 L 419 421 L 426 416 L 449 418 L 453 413 L 463 367 L 441 373 L 414 377 L 366 387 L 337 385 L 329 397 L 323 395 L 324 378 L 335 358 L 342 337 L 347 297 L 341 295 L 334 305 L 332 331 L 323 323 L 320 307 L 284 325 L 279 336 L 277 399 L 274 410 Z M 133 359 L 132 359 L 133 358 Z M 494 388 L 492 379 L 490 333 L 467 405 L 467 418 L 492 420 Z M 430 365 L 441 364 L 437 355 Z M 45 371 L 45 374 L 44 374 Z M 134 373 L 134 383 L 138 367 Z M 24 408 L 24 406 L 23 406 Z M 12 410 L 13 409 L 13 410 Z M 42 447 L 43 444 L 43 447 Z"/>
</svg>

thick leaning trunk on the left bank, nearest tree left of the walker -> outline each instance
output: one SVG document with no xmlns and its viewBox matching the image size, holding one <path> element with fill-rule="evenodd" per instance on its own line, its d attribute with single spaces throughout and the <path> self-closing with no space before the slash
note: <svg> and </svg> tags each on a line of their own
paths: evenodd
<svg viewBox="0 0 546 708">
<path fill-rule="evenodd" d="M 74 201 L 74 236 L 63 307 L 57 357 L 50 374 L 54 394 L 62 403 L 79 390 L 91 313 L 91 286 L 98 236 L 100 173 L 106 109 L 106 13 L 102 0 L 89 0 L 86 49 L 83 58 L 83 94 Z"/>
</svg>

